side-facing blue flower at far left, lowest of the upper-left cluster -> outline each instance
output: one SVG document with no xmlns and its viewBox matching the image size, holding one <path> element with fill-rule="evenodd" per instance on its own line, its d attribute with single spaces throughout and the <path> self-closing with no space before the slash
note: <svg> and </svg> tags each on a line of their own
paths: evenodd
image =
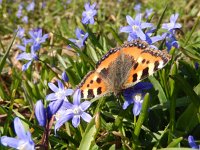
<svg viewBox="0 0 200 150">
<path fill-rule="evenodd" d="M 17 56 L 17 60 L 22 59 L 28 60 L 28 62 L 22 66 L 22 71 L 26 71 L 34 60 L 38 60 L 38 56 L 34 50 L 31 50 L 31 53 L 23 52 Z"/>
</svg>

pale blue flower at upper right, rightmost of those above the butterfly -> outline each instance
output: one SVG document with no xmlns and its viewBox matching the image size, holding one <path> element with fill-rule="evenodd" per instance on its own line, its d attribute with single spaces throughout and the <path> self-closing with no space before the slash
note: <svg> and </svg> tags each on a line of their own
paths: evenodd
<svg viewBox="0 0 200 150">
<path fill-rule="evenodd" d="M 163 23 L 162 28 L 166 29 L 168 31 L 172 31 L 173 29 L 181 28 L 181 24 L 176 23 L 177 19 L 178 19 L 178 14 L 172 14 L 170 17 L 170 23 Z"/>
</svg>

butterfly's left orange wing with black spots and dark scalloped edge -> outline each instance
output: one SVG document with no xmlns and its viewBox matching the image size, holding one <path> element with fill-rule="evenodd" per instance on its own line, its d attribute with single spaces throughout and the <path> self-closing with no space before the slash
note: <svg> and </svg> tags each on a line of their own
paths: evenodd
<svg viewBox="0 0 200 150">
<path fill-rule="evenodd" d="M 100 72 L 103 69 L 107 69 L 118 56 L 119 49 L 111 49 L 97 62 L 96 70 L 89 72 L 84 77 L 77 87 L 81 90 L 82 98 L 98 98 L 112 92 L 109 89 L 108 83 L 101 77 Z"/>
</svg>

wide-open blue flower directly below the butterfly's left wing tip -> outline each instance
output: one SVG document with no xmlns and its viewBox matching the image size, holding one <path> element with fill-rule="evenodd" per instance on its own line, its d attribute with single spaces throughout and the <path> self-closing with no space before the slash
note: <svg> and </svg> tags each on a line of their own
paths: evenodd
<svg viewBox="0 0 200 150">
<path fill-rule="evenodd" d="M 76 128 L 80 124 L 80 118 L 86 122 L 90 122 L 92 117 L 85 111 L 90 107 L 91 102 L 81 100 L 81 92 L 78 89 L 73 95 L 73 104 L 69 102 L 64 102 L 63 106 L 56 114 L 56 125 L 55 132 L 59 129 L 65 122 L 72 119 L 72 125 Z"/>
</svg>

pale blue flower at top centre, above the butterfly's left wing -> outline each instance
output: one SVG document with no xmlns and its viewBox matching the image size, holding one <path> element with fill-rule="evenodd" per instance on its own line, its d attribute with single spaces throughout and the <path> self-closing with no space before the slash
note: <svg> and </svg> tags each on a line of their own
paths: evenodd
<svg viewBox="0 0 200 150">
<path fill-rule="evenodd" d="M 85 11 L 82 14 L 82 23 L 83 24 L 94 24 L 94 16 L 97 14 L 95 10 L 96 3 L 90 5 L 90 3 L 85 4 Z"/>
</svg>

